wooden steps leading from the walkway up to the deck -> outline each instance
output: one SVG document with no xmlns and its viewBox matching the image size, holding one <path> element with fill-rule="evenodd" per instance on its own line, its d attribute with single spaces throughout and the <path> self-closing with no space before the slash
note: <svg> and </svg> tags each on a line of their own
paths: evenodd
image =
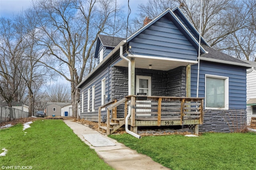
<svg viewBox="0 0 256 170">
<path fill-rule="evenodd" d="M 117 131 L 120 127 L 124 125 L 124 118 L 111 119 L 110 122 L 110 135 Z M 107 131 L 107 123 L 106 126 L 100 126 L 99 132 L 102 134 L 106 134 Z"/>
</svg>

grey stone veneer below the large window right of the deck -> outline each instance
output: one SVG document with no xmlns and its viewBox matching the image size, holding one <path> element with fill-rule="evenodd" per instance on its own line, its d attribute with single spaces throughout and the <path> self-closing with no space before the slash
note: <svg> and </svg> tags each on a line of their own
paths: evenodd
<svg viewBox="0 0 256 170">
<path fill-rule="evenodd" d="M 201 132 L 234 132 L 246 125 L 246 109 L 204 110 Z M 246 127 L 247 128 L 247 127 Z"/>
</svg>

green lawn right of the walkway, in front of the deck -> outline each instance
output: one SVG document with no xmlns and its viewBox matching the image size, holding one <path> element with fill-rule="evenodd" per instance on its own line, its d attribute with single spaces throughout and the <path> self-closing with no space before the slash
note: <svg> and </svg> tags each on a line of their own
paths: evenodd
<svg viewBox="0 0 256 170">
<path fill-rule="evenodd" d="M 256 133 L 110 137 L 172 170 L 256 170 Z"/>
</svg>

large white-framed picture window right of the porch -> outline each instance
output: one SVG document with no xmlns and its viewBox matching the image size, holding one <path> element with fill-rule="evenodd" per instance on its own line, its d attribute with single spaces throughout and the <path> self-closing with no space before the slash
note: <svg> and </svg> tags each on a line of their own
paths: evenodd
<svg viewBox="0 0 256 170">
<path fill-rule="evenodd" d="M 206 74 L 205 108 L 228 109 L 228 77 Z"/>
</svg>

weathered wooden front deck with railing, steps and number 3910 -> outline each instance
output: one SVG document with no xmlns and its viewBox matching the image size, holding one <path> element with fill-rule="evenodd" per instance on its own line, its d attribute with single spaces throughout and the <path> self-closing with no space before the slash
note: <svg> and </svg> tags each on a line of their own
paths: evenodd
<svg viewBox="0 0 256 170">
<path fill-rule="evenodd" d="M 116 108 L 124 104 L 123 119 L 127 116 L 128 108 L 131 110 L 131 116 L 128 119 L 128 125 L 131 125 L 131 131 L 137 133 L 137 127 L 140 126 L 172 126 L 172 125 L 198 125 L 203 122 L 203 103 L 204 98 L 186 98 L 186 97 L 167 97 L 167 96 L 147 96 L 146 100 L 137 100 L 137 96 L 126 96 L 120 101 L 112 101 L 99 107 L 99 125 L 101 121 L 101 109 L 107 110 L 106 127 L 102 127 L 107 135 L 114 133 L 110 119 L 116 119 Z M 124 120 L 124 124 L 125 124 Z M 117 127 L 117 126 L 116 126 Z M 196 126 L 198 128 L 198 126 Z M 196 129 L 198 134 L 198 129 Z"/>
</svg>

